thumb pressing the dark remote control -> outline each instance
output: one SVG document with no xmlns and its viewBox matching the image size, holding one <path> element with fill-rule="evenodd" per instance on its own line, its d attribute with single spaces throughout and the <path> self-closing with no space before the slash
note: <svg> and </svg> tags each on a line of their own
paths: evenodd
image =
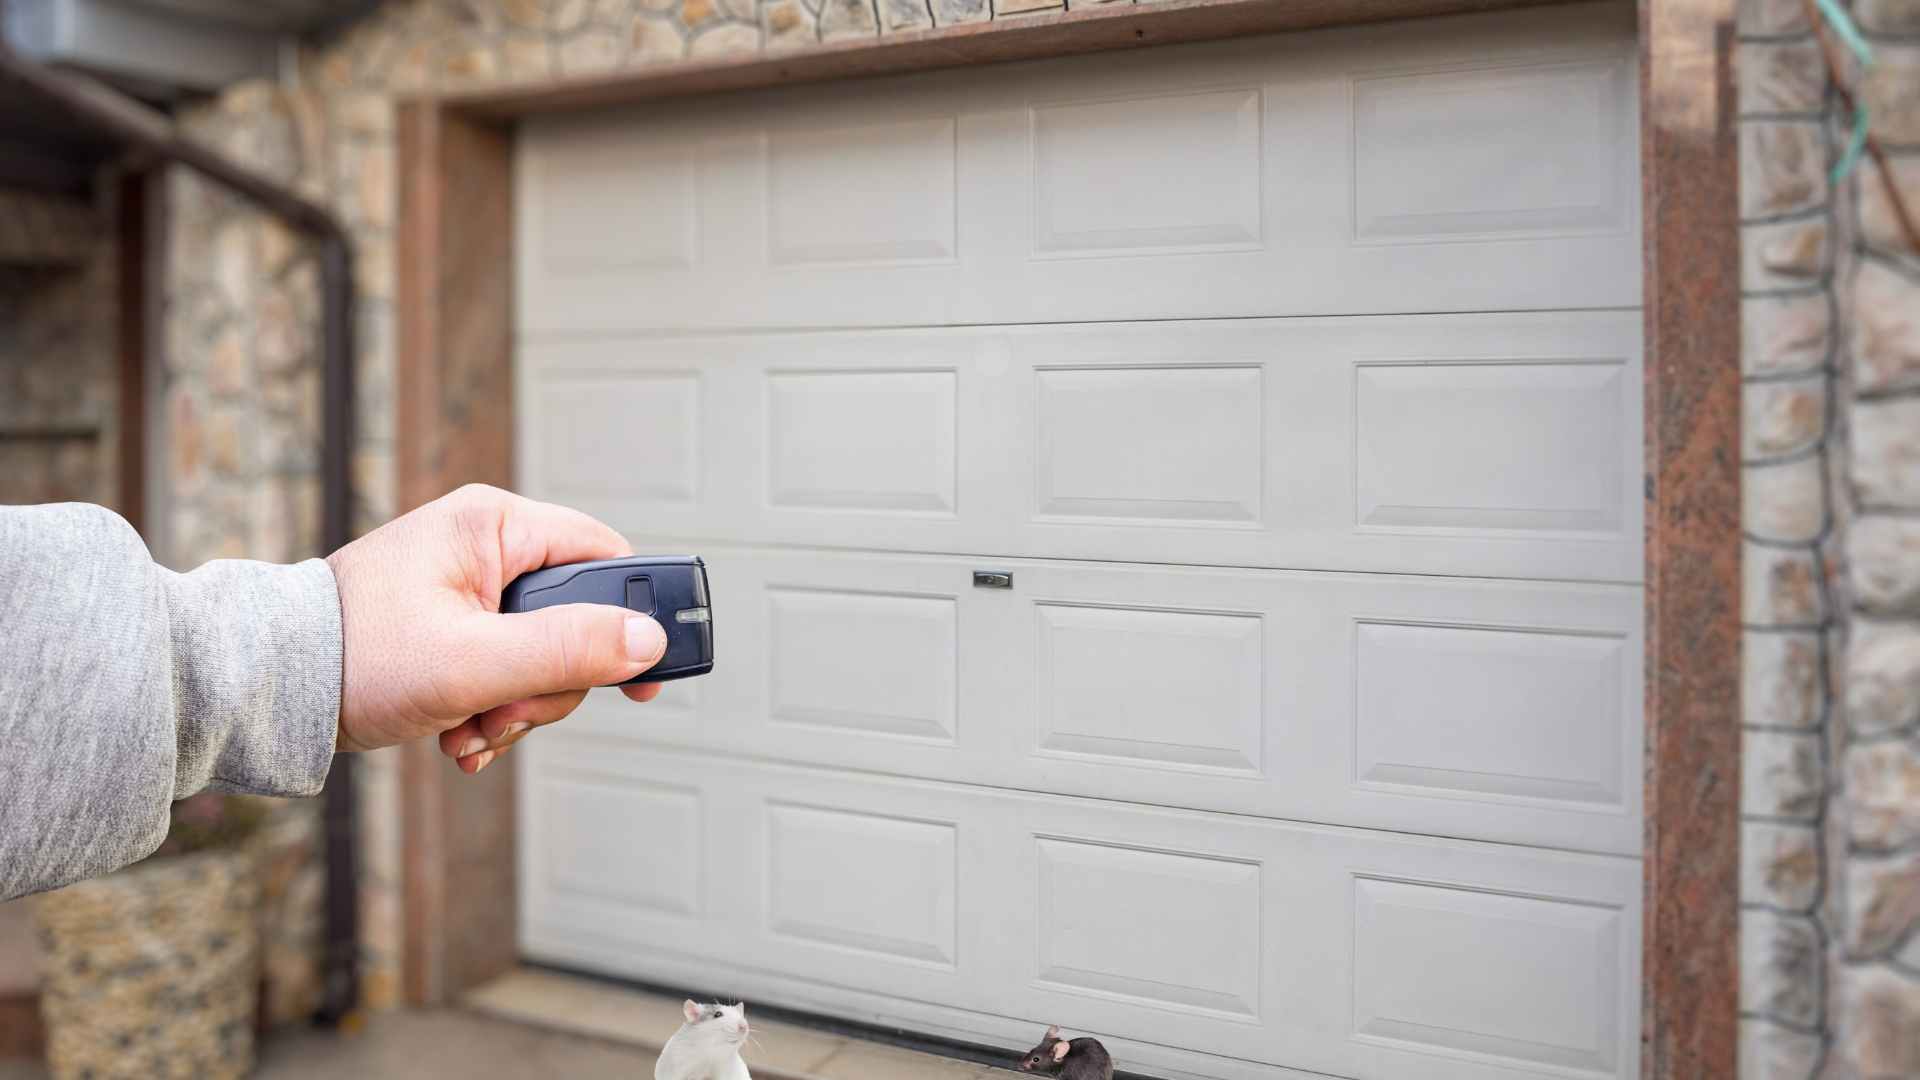
<svg viewBox="0 0 1920 1080">
<path fill-rule="evenodd" d="M 563 603 L 482 615 L 468 648 L 468 686 L 493 707 L 555 690 L 626 682 L 660 661 L 666 630 L 626 607 Z"/>
</svg>

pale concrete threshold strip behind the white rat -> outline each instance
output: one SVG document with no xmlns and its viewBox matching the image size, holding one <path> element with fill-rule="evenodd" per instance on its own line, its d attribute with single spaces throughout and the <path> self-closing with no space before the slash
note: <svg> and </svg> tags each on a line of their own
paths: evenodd
<svg viewBox="0 0 1920 1080">
<path fill-rule="evenodd" d="M 468 992 L 478 1013 L 659 1053 L 680 1030 L 680 999 L 593 978 L 520 969 Z M 741 1055 L 753 1080 L 1008 1080 L 1014 1072 L 753 1017 Z"/>
</svg>

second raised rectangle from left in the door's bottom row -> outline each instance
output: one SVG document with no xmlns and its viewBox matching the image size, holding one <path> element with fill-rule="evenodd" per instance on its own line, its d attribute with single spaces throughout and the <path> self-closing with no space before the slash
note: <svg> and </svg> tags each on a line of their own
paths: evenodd
<svg viewBox="0 0 1920 1080">
<path fill-rule="evenodd" d="M 952 967 L 956 832 L 941 821 L 770 803 L 770 930 Z"/>
</svg>

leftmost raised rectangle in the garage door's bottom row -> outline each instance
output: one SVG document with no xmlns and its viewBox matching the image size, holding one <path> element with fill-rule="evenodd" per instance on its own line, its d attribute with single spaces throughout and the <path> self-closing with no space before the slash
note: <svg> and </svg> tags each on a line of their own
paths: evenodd
<svg viewBox="0 0 1920 1080">
<path fill-rule="evenodd" d="M 543 780 L 538 849 L 553 892 L 701 913 L 707 846 L 697 790 L 572 773 Z"/>
</svg>

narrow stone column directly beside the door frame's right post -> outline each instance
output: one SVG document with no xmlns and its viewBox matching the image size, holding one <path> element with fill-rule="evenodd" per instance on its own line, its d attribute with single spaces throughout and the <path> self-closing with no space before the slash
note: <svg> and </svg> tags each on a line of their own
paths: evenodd
<svg viewBox="0 0 1920 1080">
<path fill-rule="evenodd" d="M 1799 0 L 1740 13 L 1741 694 L 1740 1070 L 1805 1080 L 1826 1053 L 1826 553 L 1837 461 L 1828 73 Z"/>
</svg>

